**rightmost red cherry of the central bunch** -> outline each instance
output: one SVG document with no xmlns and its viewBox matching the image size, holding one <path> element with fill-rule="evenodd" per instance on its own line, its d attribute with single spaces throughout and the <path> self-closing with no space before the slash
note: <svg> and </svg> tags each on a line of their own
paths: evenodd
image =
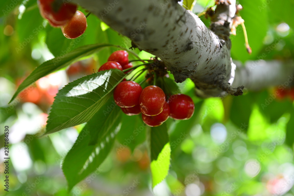
<svg viewBox="0 0 294 196">
<path fill-rule="evenodd" d="M 170 117 L 185 120 L 193 116 L 195 105 L 191 97 L 185 94 L 174 94 L 168 99 Z"/>
</svg>

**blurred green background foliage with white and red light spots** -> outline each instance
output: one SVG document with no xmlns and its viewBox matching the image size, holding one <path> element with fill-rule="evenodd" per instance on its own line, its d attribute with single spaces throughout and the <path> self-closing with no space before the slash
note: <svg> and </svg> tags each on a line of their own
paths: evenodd
<svg viewBox="0 0 294 196">
<path fill-rule="evenodd" d="M 183 3 L 191 7 L 191 2 Z M 246 52 L 243 30 L 238 26 L 236 36 L 231 36 L 233 60 L 240 64 L 250 60 L 293 63 L 293 1 L 239 3 L 253 52 Z M 214 1 L 197 0 L 193 12 L 201 15 L 213 5 Z M 123 116 L 111 154 L 96 172 L 67 193 L 61 163 L 84 125 L 46 137 L 39 137 L 40 132 L 58 90 L 97 72 L 117 48 L 103 49 L 41 78 L 8 102 L 21 81 L 49 59 L 85 44 L 129 48 L 131 43 L 94 15 L 87 18 L 85 34 L 69 40 L 40 16 L 35 0 L 2 0 L 0 8 L 0 195 L 294 195 L 293 82 L 281 84 L 289 92 L 285 97 L 276 96 L 278 87 L 270 86 L 258 92 L 245 89 L 239 97 L 203 100 L 194 95 L 189 79 L 177 85 L 193 98 L 196 110 L 189 120 L 167 121 L 171 166 L 166 180 L 151 189 L 146 127 L 139 117 Z M 200 17 L 209 26 L 209 19 L 204 14 Z M 134 52 L 142 59 L 152 57 Z M 130 55 L 130 59 L 135 57 Z M 3 186 L 5 126 L 9 126 L 9 193 Z M 136 129 L 142 129 L 140 135 L 127 142 Z"/>
</svg>

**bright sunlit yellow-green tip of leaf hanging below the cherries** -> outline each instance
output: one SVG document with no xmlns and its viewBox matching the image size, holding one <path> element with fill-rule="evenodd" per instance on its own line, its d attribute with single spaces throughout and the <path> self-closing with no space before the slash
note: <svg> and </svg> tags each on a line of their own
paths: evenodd
<svg viewBox="0 0 294 196">
<path fill-rule="evenodd" d="M 152 174 L 152 188 L 166 178 L 168 175 L 169 165 L 171 163 L 171 146 L 166 143 L 158 155 L 157 160 L 150 164 Z"/>
</svg>

